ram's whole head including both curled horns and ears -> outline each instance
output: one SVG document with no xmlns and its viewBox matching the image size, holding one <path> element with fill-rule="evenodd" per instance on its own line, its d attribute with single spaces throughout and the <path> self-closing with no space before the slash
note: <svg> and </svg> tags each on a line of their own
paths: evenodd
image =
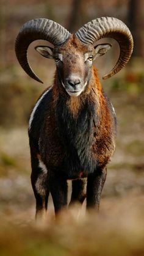
<svg viewBox="0 0 144 256">
<path fill-rule="evenodd" d="M 104 37 L 112 37 L 120 45 L 117 64 L 103 77 L 106 79 L 118 73 L 128 63 L 133 49 L 131 32 L 117 18 L 97 18 L 82 26 L 76 34 L 70 34 L 67 29 L 51 20 L 31 20 L 21 27 L 16 38 L 15 51 L 26 73 L 41 82 L 29 65 L 27 48 L 38 39 L 52 43 L 54 48 L 37 46 L 35 49 L 42 56 L 55 60 L 61 85 L 69 95 L 78 96 L 90 80 L 93 60 L 105 54 L 112 46 L 109 43 L 96 45 L 96 42 Z"/>
</svg>

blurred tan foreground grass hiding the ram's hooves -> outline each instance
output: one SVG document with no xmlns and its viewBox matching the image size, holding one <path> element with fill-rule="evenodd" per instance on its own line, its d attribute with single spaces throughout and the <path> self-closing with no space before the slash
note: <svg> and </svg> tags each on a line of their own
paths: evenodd
<svg viewBox="0 0 144 256">
<path fill-rule="evenodd" d="M 135 205 L 137 207 L 135 208 Z M 77 207 L 63 212 L 57 221 L 48 214 L 45 226 L 29 221 L 1 224 L 2 256 L 76 255 L 138 256 L 144 254 L 144 197 L 103 200 L 100 214 L 95 212 L 77 218 Z"/>
</svg>

